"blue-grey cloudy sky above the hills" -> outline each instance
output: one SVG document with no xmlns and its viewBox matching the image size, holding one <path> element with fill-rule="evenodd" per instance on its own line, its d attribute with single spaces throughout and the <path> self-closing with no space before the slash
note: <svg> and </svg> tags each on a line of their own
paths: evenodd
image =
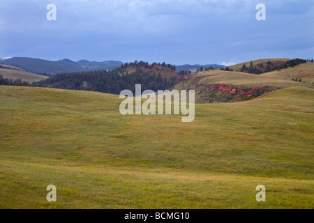
<svg viewBox="0 0 314 223">
<path fill-rule="evenodd" d="M 47 4 L 57 6 L 48 21 Z M 266 21 L 257 21 L 257 3 Z M 314 0 L 1 0 L 0 58 L 220 63 L 314 58 Z"/>
</svg>

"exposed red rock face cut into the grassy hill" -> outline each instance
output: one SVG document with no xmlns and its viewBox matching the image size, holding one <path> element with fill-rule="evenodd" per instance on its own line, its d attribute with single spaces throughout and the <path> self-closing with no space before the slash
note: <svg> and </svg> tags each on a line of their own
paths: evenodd
<svg viewBox="0 0 314 223">
<path fill-rule="evenodd" d="M 228 93 L 239 94 L 244 95 L 246 97 L 257 97 L 261 95 L 262 93 L 265 93 L 267 91 L 271 91 L 269 86 L 264 86 L 262 88 L 251 88 L 251 89 L 240 89 L 236 88 L 229 84 L 197 84 L 197 87 L 199 86 L 205 86 L 208 89 L 214 89 L 216 88 L 218 91 L 226 91 Z"/>
</svg>

